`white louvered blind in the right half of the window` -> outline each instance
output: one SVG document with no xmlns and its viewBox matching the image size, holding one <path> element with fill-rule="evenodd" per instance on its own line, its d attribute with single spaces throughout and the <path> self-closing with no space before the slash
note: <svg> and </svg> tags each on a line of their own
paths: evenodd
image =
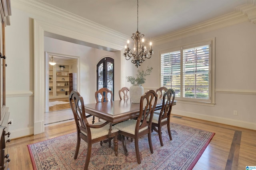
<svg viewBox="0 0 256 170">
<path fill-rule="evenodd" d="M 183 97 L 209 99 L 209 45 L 183 50 Z"/>
</svg>

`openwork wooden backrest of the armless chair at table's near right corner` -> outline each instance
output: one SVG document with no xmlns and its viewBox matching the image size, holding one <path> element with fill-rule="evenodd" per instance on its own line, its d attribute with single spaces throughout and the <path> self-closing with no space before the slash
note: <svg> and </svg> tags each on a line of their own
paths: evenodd
<svg viewBox="0 0 256 170">
<path fill-rule="evenodd" d="M 140 98 L 140 115 L 137 118 L 135 134 L 144 127 L 151 130 L 151 123 L 156 108 L 157 94 L 154 90 L 148 90 Z M 149 120 L 147 121 L 149 117 Z"/>
</svg>

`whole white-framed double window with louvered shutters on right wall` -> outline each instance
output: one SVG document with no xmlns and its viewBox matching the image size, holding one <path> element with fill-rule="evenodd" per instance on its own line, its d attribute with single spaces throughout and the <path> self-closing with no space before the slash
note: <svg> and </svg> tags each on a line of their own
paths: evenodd
<svg viewBox="0 0 256 170">
<path fill-rule="evenodd" d="M 161 86 L 177 100 L 212 103 L 212 41 L 161 52 Z"/>
</svg>

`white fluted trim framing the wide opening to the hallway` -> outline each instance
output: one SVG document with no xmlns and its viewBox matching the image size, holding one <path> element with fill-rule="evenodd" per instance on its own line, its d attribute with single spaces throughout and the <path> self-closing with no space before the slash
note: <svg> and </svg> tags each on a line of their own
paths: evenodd
<svg viewBox="0 0 256 170">
<path fill-rule="evenodd" d="M 83 27 L 84 28 L 84 27 Z M 73 28 L 78 29 L 76 28 Z M 85 28 L 84 28 L 85 29 Z M 54 25 L 53 23 L 47 23 L 44 21 L 34 20 L 34 135 L 44 132 L 44 106 L 45 106 L 45 57 L 44 57 L 44 31 L 54 33 L 56 35 L 62 35 L 78 39 L 77 37 L 82 38 L 82 41 L 87 41 L 88 43 L 94 44 L 104 44 L 106 46 L 110 45 L 112 48 L 120 50 L 121 54 L 124 52 L 124 49 L 119 44 L 113 44 L 111 41 L 113 39 L 109 39 L 109 41 L 104 40 L 102 35 L 99 37 L 89 37 L 81 32 L 77 32 L 72 30 L 70 27 L 66 25 L 66 27 L 62 25 Z M 102 34 L 102 32 L 101 32 Z M 101 36 L 101 37 L 100 37 Z M 115 40 L 118 37 L 114 37 Z M 119 38 L 118 41 L 123 41 L 124 38 Z M 112 41 L 112 42 L 118 42 Z M 121 57 L 120 66 L 124 68 L 124 59 Z M 121 70 L 121 80 L 124 82 L 124 72 Z"/>
</svg>

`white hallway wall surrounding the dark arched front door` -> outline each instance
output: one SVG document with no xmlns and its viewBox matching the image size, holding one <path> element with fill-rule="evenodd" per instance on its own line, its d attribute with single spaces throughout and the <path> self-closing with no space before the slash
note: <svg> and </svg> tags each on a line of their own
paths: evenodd
<svg viewBox="0 0 256 170">
<path fill-rule="evenodd" d="M 78 68 L 78 76 L 80 76 L 80 84 L 78 89 L 84 98 L 84 103 L 95 102 L 94 92 L 97 90 L 96 80 L 96 65 L 98 62 L 105 58 L 111 57 L 114 59 L 114 98 L 119 98 L 118 90 L 120 88 L 120 55 L 116 55 L 114 52 L 104 51 L 100 49 L 94 49 L 86 47 L 84 45 L 78 45 L 67 41 L 62 41 L 50 37 L 44 37 L 44 50 L 51 53 L 57 53 L 60 55 L 76 56 L 80 59 Z"/>
</svg>

